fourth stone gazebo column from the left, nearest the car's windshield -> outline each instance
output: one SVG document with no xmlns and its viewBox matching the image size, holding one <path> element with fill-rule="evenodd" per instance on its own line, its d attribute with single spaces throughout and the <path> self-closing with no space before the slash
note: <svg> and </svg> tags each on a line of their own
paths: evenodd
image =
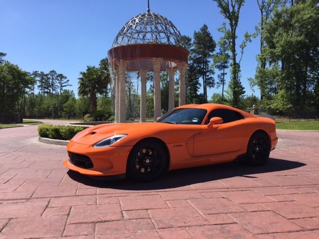
<svg viewBox="0 0 319 239">
<path fill-rule="evenodd" d="M 154 69 L 154 121 L 160 117 L 160 64 L 161 58 L 153 58 Z"/>
</svg>

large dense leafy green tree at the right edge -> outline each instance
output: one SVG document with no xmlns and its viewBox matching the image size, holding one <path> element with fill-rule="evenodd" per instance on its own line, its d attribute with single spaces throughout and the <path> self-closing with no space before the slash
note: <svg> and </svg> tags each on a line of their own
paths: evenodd
<svg viewBox="0 0 319 239">
<path fill-rule="evenodd" d="M 316 91 L 319 72 L 318 1 L 291 1 L 290 5 L 274 8 L 273 12 L 264 26 L 265 46 L 261 55 L 270 69 L 280 67 L 278 77 L 271 78 L 270 85 L 277 88 L 271 106 L 280 110 L 287 108 L 282 104 L 319 109 L 318 101 L 313 101 L 314 96 L 319 95 Z"/>
</svg>

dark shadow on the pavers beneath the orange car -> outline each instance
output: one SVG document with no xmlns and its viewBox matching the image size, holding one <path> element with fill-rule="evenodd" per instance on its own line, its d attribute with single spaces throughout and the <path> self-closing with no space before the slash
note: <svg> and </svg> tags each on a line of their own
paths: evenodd
<svg viewBox="0 0 319 239">
<path fill-rule="evenodd" d="M 134 182 L 127 179 L 108 180 L 107 177 L 99 177 L 99 179 L 96 179 L 71 170 L 69 170 L 67 174 L 71 179 L 79 183 L 97 188 L 117 190 L 159 190 L 236 176 L 257 178 L 258 175 L 254 176 L 253 174 L 285 171 L 303 167 L 305 165 L 305 163 L 277 158 L 269 158 L 268 162 L 261 167 L 244 165 L 235 161 L 231 163 L 169 171 L 157 181 L 149 183 Z"/>
</svg>

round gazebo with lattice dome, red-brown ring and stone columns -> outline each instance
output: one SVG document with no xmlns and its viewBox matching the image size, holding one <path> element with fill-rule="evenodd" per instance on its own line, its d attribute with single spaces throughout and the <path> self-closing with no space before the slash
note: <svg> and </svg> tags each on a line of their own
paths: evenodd
<svg viewBox="0 0 319 239">
<path fill-rule="evenodd" d="M 168 110 L 174 108 L 174 75 L 179 71 L 179 106 L 185 104 L 185 70 L 189 52 L 181 35 L 166 17 L 150 11 L 131 18 L 108 51 L 115 83 L 115 122 L 126 121 L 126 72 L 141 77 L 141 122 L 146 121 L 146 77 L 154 72 L 154 119 L 161 115 L 160 72 L 169 76 Z"/>
</svg>

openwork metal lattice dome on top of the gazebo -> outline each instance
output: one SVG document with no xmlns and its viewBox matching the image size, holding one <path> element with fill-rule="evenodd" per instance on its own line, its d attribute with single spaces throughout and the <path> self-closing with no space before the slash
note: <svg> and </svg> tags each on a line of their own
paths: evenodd
<svg viewBox="0 0 319 239">
<path fill-rule="evenodd" d="M 181 35 L 174 24 L 158 13 L 145 12 L 132 17 L 119 31 L 112 48 L 130 44 L 181 46 Z"/>
</svg>

